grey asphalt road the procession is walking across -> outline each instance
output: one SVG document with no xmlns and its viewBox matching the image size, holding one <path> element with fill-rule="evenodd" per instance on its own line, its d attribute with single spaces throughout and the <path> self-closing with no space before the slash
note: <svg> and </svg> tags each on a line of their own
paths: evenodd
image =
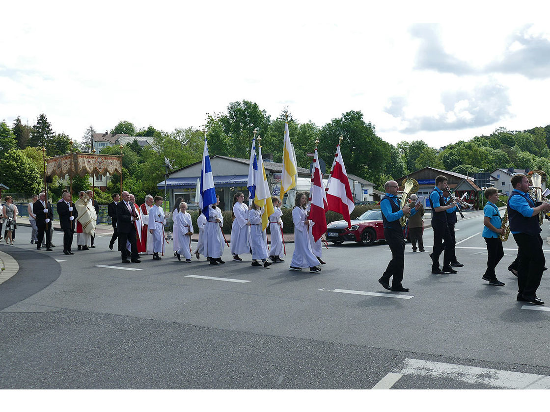
<svg viewBox="0 0 550 412">
<path fill-rule="evenodd" d="M 23 260 L 0 285 L 0 387 L 550 388 L 550 311 L 516 302 L 513 238 L 497 268 L 506 286 L 494 287 L 481 279 L 482 213 L 456 229 L 465 267 L 431 274 L 428 229 L 425 253 L 406 247 L 410 292 L 399 294 L 377 282 L 384 243 L 331 246 L 310 274 L 288 270 L 292 244 L 268 269 L 229 261 L 228 249 L 225 265 L 172 252 L 123 265 L 108 236 L 65 257 L 61 233 L 54 252 L 36 252 L 20 228 L 15 246 L 0 246 Z M 538 296 L 550 307 L 547 272 Z"/>
</svg>

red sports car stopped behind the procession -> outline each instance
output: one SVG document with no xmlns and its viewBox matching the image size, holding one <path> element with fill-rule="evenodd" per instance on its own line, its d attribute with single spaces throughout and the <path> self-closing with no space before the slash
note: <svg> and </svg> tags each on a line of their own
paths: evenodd
<svg viewBox="0 0 550 412">
<path fill-rule="evenodd" d="M 424 223 L 422 222 L 422 233 Z M 403 235 L 409 240 L 409 233 L 406 233 L 406 226 L 403 227 Z M 351 220 L 351 227 L 348 229 L 348 222 L 337 220 L 327 225 L 327 241 L 335 244 L 344 242 L 357 242 L 370 246 L 375 241 L 386 240 L 384 237 L 384 225 L 382 222 L 382 211 L 380 209 L 367 210 L 357 219 Z"/>
</svg>

